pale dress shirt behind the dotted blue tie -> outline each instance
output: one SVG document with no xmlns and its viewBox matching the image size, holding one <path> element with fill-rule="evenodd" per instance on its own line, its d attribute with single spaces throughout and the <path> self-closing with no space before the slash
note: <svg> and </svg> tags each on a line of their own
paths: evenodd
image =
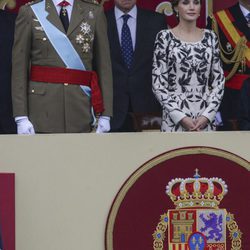
<svg viewBox="0 0 250 250">
<path fill-rule="evenodd" d="M 118 9 L 115 6 L 115 19 L 116 19 L 116 26 L 118 31 L 118 36 L 121 44 L 121 33 L 122 33 L 122 25 L 123 25 L 123 18 L 122 16 L 124 14 L 130 15 L 130 18 L 128 19 L 128 27 L 130 29 L 132 43 L 133 43 L 133 49 L 135 50 L 135 38 L 136 38 L 136 19 L 137 19 L 137 7 L 136 5 L 128 12 L 124 13 L 120 9 Z"/>
</svg>

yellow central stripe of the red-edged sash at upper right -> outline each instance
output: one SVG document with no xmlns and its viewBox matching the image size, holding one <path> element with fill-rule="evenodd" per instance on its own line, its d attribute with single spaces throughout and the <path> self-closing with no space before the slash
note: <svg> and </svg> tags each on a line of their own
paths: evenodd
<svg viewBox="0 0 250 250">
<path fill-rule="evenodd" d="M 232 24 L 232 21 L 229 19 L 226 12 L 224 10 L 222 10 L 222 11 L 219 11 L 217 15 L 219 16 L 225 29 L 230 34 L 234 43 L 237 44 L 239 42 L 241 36 L 239 35 L 238 31 L 235 29 L 234 25 Z M 246 50 L 246 58 L 248 61 L 250 61 L 250 48 L 247 48 L 247 50 Z"/>
</svg>

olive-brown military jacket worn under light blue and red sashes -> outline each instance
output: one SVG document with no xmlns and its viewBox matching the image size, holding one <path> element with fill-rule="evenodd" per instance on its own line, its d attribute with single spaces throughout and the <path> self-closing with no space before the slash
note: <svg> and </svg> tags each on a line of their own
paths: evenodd
<svg viewBox="0 0 250 250">
<path fill-rule="evenodd" d="M 42 1 L 46 1 L 44 11 L 48 12 L 47 19 L 65 33 L 52 0 Z M 87 52 L 83 52 L 82 46 L 76 41 L 83 23 L 90 25 L 90 32 L 94 35 Z M 102 7 L 92 0 L 75 0 L 66 35 L 86 70 L 97 71 L 104 99 L 103 115 L 111 116 L 112 73 L 106 19 Z M 90 98 L 79 85 L 32 82 L 29 79 L 30 65 L 65 67 L 30 5 L 20 8 L 16 20 L 12 61 L 14 116 L 28 116 L 36 132 L 90 131 Z"/>
</svg>

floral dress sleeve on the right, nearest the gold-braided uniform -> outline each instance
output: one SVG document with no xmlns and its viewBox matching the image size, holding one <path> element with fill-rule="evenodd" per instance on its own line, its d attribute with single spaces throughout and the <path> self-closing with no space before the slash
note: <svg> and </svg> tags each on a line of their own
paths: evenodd
<svg viewBox="0 0 250 250">
<path fill-rule="evenodd" d="M 202 113 L 203 116 L 207 117 L 209 121 L 213 121 L 220 107 L 220 103 L 224 93 L 225 77 L 220 60 L 220 51 L 218 38 L 214 32 L 212 32 L 212 64 L 210 71 L 210 94 L 207 100 L 208 106 Z"/>
</svg>

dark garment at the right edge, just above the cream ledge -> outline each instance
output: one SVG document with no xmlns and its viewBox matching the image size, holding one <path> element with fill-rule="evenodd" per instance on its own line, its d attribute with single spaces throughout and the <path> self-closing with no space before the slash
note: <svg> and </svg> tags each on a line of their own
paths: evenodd
<svg viewBox="0 0 250 250">
<path fill-rule="evenodd" d="M 250 77 L 244 81 L 240 92 L 239 127 L 250 130 Z"/>
</svg>

